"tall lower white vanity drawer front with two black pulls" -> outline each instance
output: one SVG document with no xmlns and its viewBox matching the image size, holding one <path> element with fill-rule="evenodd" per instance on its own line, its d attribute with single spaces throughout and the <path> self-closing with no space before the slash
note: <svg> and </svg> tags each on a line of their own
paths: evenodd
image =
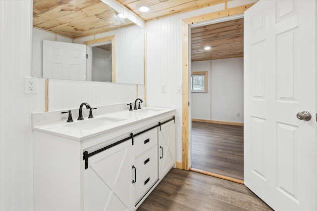
<svg viewBox="0 0 317 211">
<path fill-rule="evenodd" d="M 158 146 L 155 145 L 149 151 L 135 160 L 136 183 L 135 203 L 152 187 L 159 178 L 158 171 Z"/>
</svg>

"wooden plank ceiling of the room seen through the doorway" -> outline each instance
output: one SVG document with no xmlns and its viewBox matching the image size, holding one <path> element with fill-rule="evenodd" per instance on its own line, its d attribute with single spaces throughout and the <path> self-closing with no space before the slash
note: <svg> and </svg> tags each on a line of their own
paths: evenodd
<svg viewBox="0 0 317 211">
<path fill-rule="evenodd" d="M 192 28 L 191 47 L 192 61 L 243 57 L 243 18 Z"/>
</svg>

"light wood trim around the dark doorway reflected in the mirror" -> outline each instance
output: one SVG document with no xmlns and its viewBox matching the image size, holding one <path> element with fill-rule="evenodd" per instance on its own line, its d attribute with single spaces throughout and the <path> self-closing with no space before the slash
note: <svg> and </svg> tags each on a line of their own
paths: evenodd
<svg viewBox="0 0 317 211">
<path fill-rule="evenodd" d="M 96 44 L 102 45 L 103 42 L 109 42 L 111 41 L 111 83 L 115 83 L 115 69 L 116 69 L 116 62 L 115 62 L 115 35 L 103 37 L 95 40 L 85 41 L 84 44 L 88 46 Z M 91 46 L 92 47 L 92 46 Z"/>
</svg>

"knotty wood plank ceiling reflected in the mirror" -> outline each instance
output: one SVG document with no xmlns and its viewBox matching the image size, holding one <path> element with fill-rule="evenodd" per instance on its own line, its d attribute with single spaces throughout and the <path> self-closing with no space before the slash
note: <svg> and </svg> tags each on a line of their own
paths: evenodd
<svg viewBox="0 0 317 211">
<path fill-rule="evenodd" d="M 135 25 L 100 0 L 33 0 L 33 26 L 71 39 Z"/>
</svg>

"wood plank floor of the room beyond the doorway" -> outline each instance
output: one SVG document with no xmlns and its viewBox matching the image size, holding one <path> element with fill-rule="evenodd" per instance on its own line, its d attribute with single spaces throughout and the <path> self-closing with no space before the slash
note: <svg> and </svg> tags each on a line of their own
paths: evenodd
<svg viewBox="0 0 317 211">
<path fill-rule="evenodd" d="M 243 127 L 193 121 L 192 168 L 243 180 Z"/>
</svg>

